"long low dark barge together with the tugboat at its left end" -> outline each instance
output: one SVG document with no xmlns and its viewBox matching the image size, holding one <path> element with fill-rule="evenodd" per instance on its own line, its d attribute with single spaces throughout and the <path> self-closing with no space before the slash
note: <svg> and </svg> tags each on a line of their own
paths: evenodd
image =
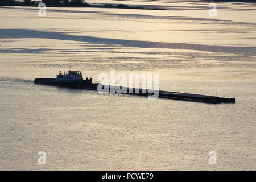
<svg viewBox="0 0 256 182">
<path fill-rule="evenodd" d="M 100 88 L 106 88 L 107 93 L 118 93 L 116 92 L 115 86 L 108 86 L 102 84 L 93 84 L 92 78 L 85 80 L 82 78 L 82 72 L 80 71 L 69 71 L 64 75 L 60 72 L 56 78 L 35 78 L 35 84 L 44 84 L 44 85 L 55 85 L 55 86 L 64 86 L 70 88 L 80 88 L 87 90 L 98 90 Z M 144 89 L 135 89 L 135 88 L 123 88 L 126 90 L 126 94 L 134 94 L 138 96 L 150 96 L 152 91 L 156 90 L 144 90 Z M 114 90 L 114 91 L 113 91 Z M 133 92 L 129 92 L 133 90 Z M 151 92 L 150 92 L 151 91 Z M 217 96 L 205 96 L 200 94 L 190 94 L 190 93 L 180 93 L 180 92 L 168 92 L 159 90 L 158 98 L 167 98 L 174 100 L 183 100 L 183 101 L 193 101 L 193 102 L 206 102 L 212 104 L 224 103 L 235 103 L 235 98 L 223 98 Z"/>
</svg>

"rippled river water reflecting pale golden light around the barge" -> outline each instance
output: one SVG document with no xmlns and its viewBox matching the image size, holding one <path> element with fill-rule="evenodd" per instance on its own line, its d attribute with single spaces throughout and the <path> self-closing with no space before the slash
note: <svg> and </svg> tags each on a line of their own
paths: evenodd
<svg viewBox="0 0 256 182">
<path fill-rule="evenodd" d="M 210 17 L 202 2 L 122 3 L 167 10 L 47 7 L 40 18 L 0 7 L 0 169 L 255 170 L 255 4 L 217 3 Z M 236 104 L 34 84 L 68 63 L 93 80 L 112 68 L 159 73 L 161 90 Z"/>
</svg>

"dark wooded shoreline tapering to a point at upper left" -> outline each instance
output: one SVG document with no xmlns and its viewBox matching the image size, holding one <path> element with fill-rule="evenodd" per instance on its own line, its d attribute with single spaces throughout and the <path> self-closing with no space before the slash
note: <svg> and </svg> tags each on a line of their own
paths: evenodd
<svg viewBox="0 0 256 182">
<path fill-rule="evenodd" d="M 0 2 L 0 6 L 38 6 L 39 2 L 32 1 L 30 3 L 26 2 L 14 2 L 14 1 L 6 1 Z M 90 5 L 88 3 L 84 3 L 81 5 L 46 5 L 47 7 L 98 7 L 98 8 L 119 8 L 119 9 L 139 9 L 139 10 L 166 10 L 160 8 L 147 8 L 141 6 L 129 6 L 129 5 L 112 5 L 112 4 L 105 4 L 105 5 Z"/>
</svg>

